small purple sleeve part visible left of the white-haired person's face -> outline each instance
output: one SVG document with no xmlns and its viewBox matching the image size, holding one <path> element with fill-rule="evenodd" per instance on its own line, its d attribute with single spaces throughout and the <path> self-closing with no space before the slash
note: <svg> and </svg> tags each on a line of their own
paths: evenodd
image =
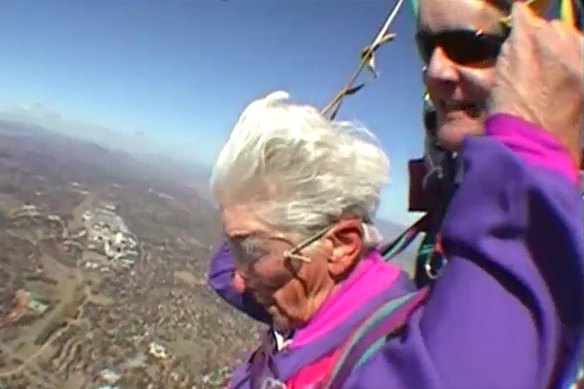
<svg viewBox="0 0 584 389">
<path fill-rule="evenodd" d="M 219 249 L 211 256 L 207 283 L 223 300 L 251 316 L 255 320 L 270 324 L 268 313 L 259 305 L 249 293 L 241 293 L 233 287 L 235 264 L 231 259 L 227 242 L 223 242 Z"/>
</svg>

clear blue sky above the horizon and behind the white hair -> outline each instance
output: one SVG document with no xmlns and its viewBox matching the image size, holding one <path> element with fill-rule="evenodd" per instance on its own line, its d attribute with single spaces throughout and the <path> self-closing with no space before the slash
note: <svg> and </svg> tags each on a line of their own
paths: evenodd
<svg viewBox="0 0 584 389">
<path fill-rule="evenodd" d="M 323 105 L 392 1 L 92 0 L 0 4 L 0 105 L 44 109 L 210 165 L 242 108 L 274 89 Z M 406 223 L 406 161 L 421 155 L 421 64 L 404 7 L 380 78 L 345 101 L 392 161 L 381 215 Z"/>
</svg>

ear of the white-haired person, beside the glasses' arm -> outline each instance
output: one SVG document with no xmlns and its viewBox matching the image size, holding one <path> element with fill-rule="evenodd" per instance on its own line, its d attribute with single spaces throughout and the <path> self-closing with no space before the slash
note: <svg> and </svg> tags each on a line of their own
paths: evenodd
<svg viewBox="0 0 584 389">
<path fill-rule="evenodd" d="M 363 226 L 359 219 L 342 220 L 326 235 L 332 245 L 328 259 L 333 277 L 345 275 L 359 260 L 363 252 Z"/>
</svg>

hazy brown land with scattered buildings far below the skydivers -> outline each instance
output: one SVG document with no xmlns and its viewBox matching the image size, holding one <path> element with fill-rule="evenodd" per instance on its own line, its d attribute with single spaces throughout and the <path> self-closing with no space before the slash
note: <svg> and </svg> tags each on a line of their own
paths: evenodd
<svg viewBox="0 0 584 389">
<path fill-rule="evenodd" d="M 206 286 L 206 180 L 0 121 L 0 388 L 222 387 L 260 327 Z"/>
</svg>

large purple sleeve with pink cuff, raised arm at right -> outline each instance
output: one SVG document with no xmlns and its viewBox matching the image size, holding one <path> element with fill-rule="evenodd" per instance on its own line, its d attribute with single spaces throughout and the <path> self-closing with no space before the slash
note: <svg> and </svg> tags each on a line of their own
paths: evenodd
<svg viewBox="0 0 584 389">
<path fill-rule="evenodd" d="M 555 139 L 508 115 L 464 140 L 444 220 L 449 259 L 408 331 L 345 388 L 561 388 L 584 328 L 577 171 Z"/>
</svg>

